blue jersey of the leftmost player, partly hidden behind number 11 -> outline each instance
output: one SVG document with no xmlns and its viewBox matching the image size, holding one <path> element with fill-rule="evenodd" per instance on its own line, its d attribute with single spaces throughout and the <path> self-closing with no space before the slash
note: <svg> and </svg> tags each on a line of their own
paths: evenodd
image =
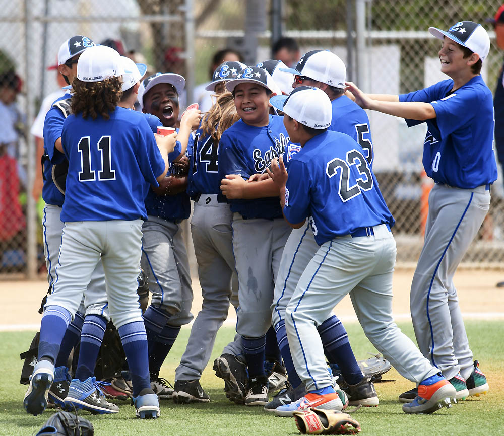
<svg viewBox="0 0 504 436">
<path fill-rule="evenodd" d="M 62 206 L 65 201 L 65 195 L 56 187 L 52 180 L 53 165 L 62 164 L 66 161 L 65 155 L 56 150 L 54 143 L 61 137 L 63 123 L 65 118 L 70 114 L 71 94 L 65 94 L 61 98 L 55 100 L 44 121 L 44 152 L 49 157 L 49 161 L 44 162 L 43 174 L 44 184 L 42 187 L 42 198 L 46 204 L 54 206 Z"/>
</svg>

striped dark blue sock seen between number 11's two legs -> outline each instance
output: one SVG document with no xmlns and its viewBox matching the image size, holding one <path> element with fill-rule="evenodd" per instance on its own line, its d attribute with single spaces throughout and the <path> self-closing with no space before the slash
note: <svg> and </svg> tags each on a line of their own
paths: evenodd
<svg viewBox="0 0 504 436">
<path fill-rule="evenodd" d="M 75 379 L 83 382 L 93 376 L 106 326 L 107 320 L 99 315 L 87 315 L 84 319 Z"/>
</svg>

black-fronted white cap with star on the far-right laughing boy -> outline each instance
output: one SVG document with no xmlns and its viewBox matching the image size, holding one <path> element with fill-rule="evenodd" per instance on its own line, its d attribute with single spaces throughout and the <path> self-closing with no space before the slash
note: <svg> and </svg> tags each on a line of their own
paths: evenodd
<svg viewBox="0 0 504 436">
<path fill-rule="evenodd" d="M 479 56 L 481 62 L 486 59 L 490 51 L 490 37 L 488 33 L 483 26 L 474 21 L 459 21 L 450 27 L 448 31 L 429 27 L 429 32 L 438 39 L 443 39 L 446 36 L 457 44 L 467 47 Z"/>
</svg>

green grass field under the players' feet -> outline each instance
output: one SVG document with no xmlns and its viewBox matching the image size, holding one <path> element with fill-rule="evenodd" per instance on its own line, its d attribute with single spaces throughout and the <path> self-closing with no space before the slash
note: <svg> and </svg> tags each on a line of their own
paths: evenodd
<svg viewBox="0 0 504 436">
<path fill-rule="evenodd" d="M 358 324 L 348 324 L 347 330 L 358 359 L 366 358 L 373 347 L 365 338 Z M 410 337 L 410 324 L 400 324 Z M 471 321 L 466 323 L 469 341 L 480 368 L 486 374 L 490 391 L 480 397 L 444 408 L 432 415 L 406 415 L 401 410 L 397 396 L 413 384 L 392 370 L 384 376 L 388 380 L 375 385 L 380 397 L 378 407 L 361 408 L 353 416 L 360 422 L 366 435 L 387 436 L 479 436 L 504 434 L 504 322 Z M 122 402 L 117 415 L 91 415 L 82 412 L 95 427 L 97 436 L 157 435 L 293 435 L 299 434 L 292 418 L 279 418 L 264 412 L 261 407 L 237 406 L 230 403 L 223 391 L 223 382 L 215 377 L 212 362 L 223 346 L 231 340 L 234 329 L 223 328 L 218 335 L 209 367 L 205 370 L 201 384 L 208 392 L 211 402 L 207 404 L 177 405 L 163 401 L 161 417 L 156 420 L 135 419 L 135 410 L 128 402 Z M 185 348 L 188 329 L 182 329 L 175 346 L 161 371 L 161 376 L 173 382 L 174 370 Z M 21 372 L 20 352 L 28 349 L 32 332 L 0 333 L 0 435 L 32 436 L 40 429 L 53 411 L 42 415 L 28 415 L 22 405 L 26 387 L 19 384 Z M 117 404 L 121 404 L 118 402 Z"/>
</svg>

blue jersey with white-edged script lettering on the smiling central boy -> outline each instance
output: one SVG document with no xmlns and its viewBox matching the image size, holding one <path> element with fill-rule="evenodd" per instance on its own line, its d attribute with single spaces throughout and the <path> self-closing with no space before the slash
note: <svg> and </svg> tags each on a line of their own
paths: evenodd
<svg viewBox="0 0 504 436">
<path fill-rule="evenodd" d="M 288 162 L 301 147 L 290 144 L 283 125 L 283 117 L 270 115 L 266 127 L 254 127 L 243 120 L 236 121 L 224 131 L 220 140 L 219 180 L 226 174 L 238 174 L 245 180 L 257 173 L 266 172 L 274 158 L 283 156 Z M 229 200 L 231 210 L 246 219 L 282 217 L 278 197 L 252 200 Z"/>
</svg>

